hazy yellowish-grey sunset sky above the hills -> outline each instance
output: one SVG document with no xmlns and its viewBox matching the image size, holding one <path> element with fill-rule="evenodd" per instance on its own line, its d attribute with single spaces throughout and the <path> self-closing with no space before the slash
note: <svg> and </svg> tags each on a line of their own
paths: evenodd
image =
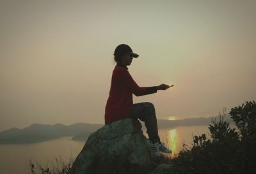
<svg viewBox="0 0 256 174">
<path fill-rule="evenodd" d="M 157 118 L 211 117 L 256 98 L 256 1 L 0 1 L 0 131 L 104 123 L 113 52 Z"/>
</svg>

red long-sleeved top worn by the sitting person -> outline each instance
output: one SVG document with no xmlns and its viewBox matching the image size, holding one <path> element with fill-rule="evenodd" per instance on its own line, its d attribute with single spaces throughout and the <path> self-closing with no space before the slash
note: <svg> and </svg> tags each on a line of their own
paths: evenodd
<svg viewBox="0 0 256 174">
<path fill-rule="evenodd" d="M 139 87 L 127 69 L 117 64 L 113 70 L 105 108 L 105 124 L 129 117 L 133 105 L 132 94 L 143 96 L 157 92 L 157 87 Z"/>
</svg>

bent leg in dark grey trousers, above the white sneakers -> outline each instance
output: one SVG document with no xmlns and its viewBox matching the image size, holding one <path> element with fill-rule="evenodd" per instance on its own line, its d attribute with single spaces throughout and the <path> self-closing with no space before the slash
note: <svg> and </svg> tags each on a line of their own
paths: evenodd
<svg viewBox="0 0 256 174">
<path fill-rule="evenodd" d="M 158 136 L 156 111 L 152 103 L 144 102 L 133 104 L 129 117 L 131 117 L 132 119 L 138 118 L 141 121 L 145 122 L 145 126 L 147 127 L 147 134 L 150 141 L 152 143 L 157 143 L 157 141 L 161 143 Z"/>
</svg>

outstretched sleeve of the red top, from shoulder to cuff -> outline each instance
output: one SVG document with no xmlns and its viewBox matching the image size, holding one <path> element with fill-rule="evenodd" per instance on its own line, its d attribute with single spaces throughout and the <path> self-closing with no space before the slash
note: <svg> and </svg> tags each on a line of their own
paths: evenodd
<svg viewBox="0 0 256 174">
<path fill-rule="evenodd" d="M 144 96 L 157 92 L 157 87 L 139 87 L 126 69 L 120 69 L 120 71 L 117 72 L 116 77 L 118 82 L 124 85 L 124 87 L 131 91 L 135 96 Z"/>
</svg>

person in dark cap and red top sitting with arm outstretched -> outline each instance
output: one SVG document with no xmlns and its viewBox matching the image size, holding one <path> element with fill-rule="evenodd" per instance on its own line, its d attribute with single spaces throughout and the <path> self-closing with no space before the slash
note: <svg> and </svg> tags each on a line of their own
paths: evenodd
<svg viewBox="0 0 256 174">
<path fill-rule="evenodd" d="M 113 70 L 109 98 L 105 108 L 105 124 L 129 117 L 138 118 L 145 122 L 145 127 L 147 127 L 149 137 L 147 144 L 150 151 L 156 156 L 160 156 L 159 151 L 172 153 L 172 150 L 167 149 L 164 143 L 160 141 L 154 105 L 149 102 L 133 104 L 132 94 L 144 96 L 156 93 L 157 90 L 166 90 L 173 85 L 161 84 L 153 87 L 139 87 L 127 68 L 131 65 L 132 59 L 138 58 L 139 55 L 132 52 L 131 47 L 125 44 L 118 45 L 114 55 L 116 66 Z"/>
</svg>

